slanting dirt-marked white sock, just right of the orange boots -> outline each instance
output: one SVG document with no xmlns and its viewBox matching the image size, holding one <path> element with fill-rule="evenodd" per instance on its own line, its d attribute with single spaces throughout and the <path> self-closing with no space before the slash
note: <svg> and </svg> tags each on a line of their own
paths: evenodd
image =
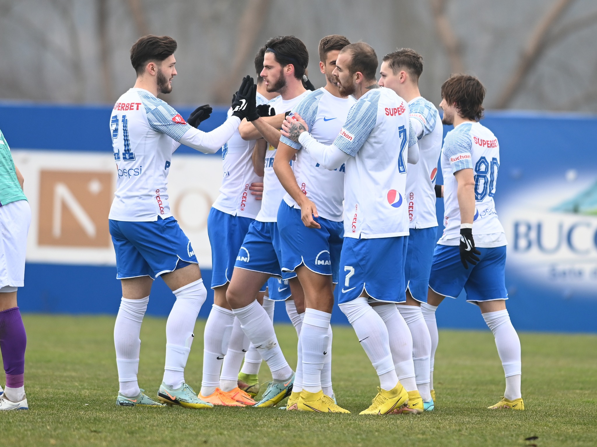
<svg viewBox="0 0 597 447">
<path fill-rule="evenodd" d="M 261 358 L 267 362 L 272 372 L 272 379 L 276 381 L 287 380 L 293 374 L 288 362 L 282 354 L 273 322 L 257 300 L 244 308 L 233 309 L 234 314 L 241 322 L 242 330 L 247 334 L 260 353 Z"/>
</svg>

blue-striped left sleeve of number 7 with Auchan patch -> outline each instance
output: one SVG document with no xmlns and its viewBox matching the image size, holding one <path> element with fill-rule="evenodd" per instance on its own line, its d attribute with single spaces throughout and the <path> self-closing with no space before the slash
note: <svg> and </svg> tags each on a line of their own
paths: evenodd
<svg viewBox="0 0 597 447">
<path fill-rule="evenodd" d="M 377 104 L 379 92 L 371 92 L 367 97 L 356 101 L 350 110 L 334 146 L 354 157 L 373 132 L 377 124 Z"/>
</svg>

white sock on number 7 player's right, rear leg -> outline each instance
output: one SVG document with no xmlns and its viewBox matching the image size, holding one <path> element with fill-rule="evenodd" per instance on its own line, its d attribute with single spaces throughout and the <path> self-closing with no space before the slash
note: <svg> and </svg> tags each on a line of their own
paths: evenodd
<svg viewBox="0 0 597 447">
<path fill-rule="evenodd" d="M 374 306 L 374 311 L 381 316 L 387 327 L 390 340 L 390 350 L 394 360 L 394 368 L 398 380 L 407 391 L 416 391 L 417 384 L 414 375 L 413 363 L 413 336 L 411 336 L 407 323 L 398 312 L 395 304 Z"/>
</svg>

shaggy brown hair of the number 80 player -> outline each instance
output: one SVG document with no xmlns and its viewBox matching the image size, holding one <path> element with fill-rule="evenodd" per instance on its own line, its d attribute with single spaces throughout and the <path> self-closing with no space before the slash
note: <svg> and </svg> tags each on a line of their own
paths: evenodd
<svg viewBox="0 0 597 447">
<path fill-rule="evenodd" d="M 479 79 L 470 75 L 452 75 L 442 84 L 442 98 L 448 104 L 456 103 L 458 114 L 470 120 L 483 117 L 485 87 Z"/>
</svg>

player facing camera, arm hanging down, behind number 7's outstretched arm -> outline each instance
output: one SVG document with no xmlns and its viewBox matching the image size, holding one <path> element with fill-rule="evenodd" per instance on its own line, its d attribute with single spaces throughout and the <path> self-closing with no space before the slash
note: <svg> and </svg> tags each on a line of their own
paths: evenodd
<svg viewBox="0 0 597 447">
<path fill-rule="evenodd" d="M 338 92 L 338 53 L 350 42 L 326 36 L 319 42 L 325 87 L 293 107 L 318 141 L 331 144 L 346 121 L 354 98 Z M 291 160 L 296 158 L 293 168 Z M 344 165 L 330 171 L 314 162 L 298 142 L 280 138 L 273 168 L 287 191 L 278 209 L 282 270 L 296 272 L 304 291 L 305 313 L 298 339 L 298 364 L 288 410 L 347 412 L 334 403 L 331 387 L 331 312 L 343 241 Z M 325 368 L 325 371 L 324 371 Z M 323 389 L 325 386 L 325 389 Z"/>
</svg>

